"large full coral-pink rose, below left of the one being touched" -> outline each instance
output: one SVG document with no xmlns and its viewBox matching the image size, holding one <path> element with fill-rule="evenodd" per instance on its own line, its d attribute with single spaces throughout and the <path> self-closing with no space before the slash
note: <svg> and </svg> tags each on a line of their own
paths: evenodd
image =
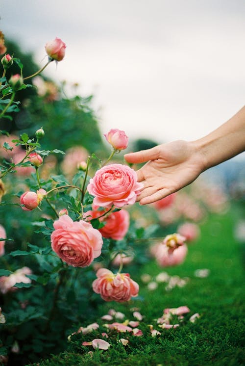
<svg viewBox="0 0 245 366">
<path fill-rule="evenodd" d="M 86 267 L 101 254 L 101 234 L 83 220 L 75 221 L 68 215 L 60 216 L 53 223 L 51 234 L 53 251 L 73 267 Z"/>
</svg>

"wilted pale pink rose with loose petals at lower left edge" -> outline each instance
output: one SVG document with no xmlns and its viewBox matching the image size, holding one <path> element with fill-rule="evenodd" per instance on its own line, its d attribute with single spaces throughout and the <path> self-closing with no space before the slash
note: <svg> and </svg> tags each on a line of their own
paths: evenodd
<svg viewBox="0 0 245 366">
<path fill-rule="evenodd" d="M 8 291 L 14 291 L 17 287 L 14 287 L 15 284 L 23 282 L 24 284 L 30 284 L 31 279 L 26 277 L 25 275 L 31 274 L 32 271 L 28 267 L 23 267 L 17 269 L 17 271 L 11 273 L 10 276 L 1 276 L 0 277 L 0 291 L 1 293 L 6 293 Z"/>
</svg>

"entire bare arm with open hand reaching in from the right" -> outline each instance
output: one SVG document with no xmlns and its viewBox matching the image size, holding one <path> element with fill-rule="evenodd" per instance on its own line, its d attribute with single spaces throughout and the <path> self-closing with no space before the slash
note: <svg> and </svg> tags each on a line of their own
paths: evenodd
<svg viewBox="0 0 245 366">
<path fill-rule="evenodd" d="M 130 163 L 147 163 L 137 171 L 144 188 L 138 196 L 146 205 L 192 183 L 204 170 L 245 150 L 245 106 L 205 137 L 193 142 L 173 141 L 126 154 Z"/>
</svg>

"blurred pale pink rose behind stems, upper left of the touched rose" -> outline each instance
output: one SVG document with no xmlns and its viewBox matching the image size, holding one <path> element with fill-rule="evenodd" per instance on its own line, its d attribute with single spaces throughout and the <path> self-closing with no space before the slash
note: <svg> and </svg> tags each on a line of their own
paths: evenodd
<svg viewBox="0 0 245 366">
<path fill-rule="evenodd" d="M 82 146 L 74 146 L 66 151 L 66 155 L 62 161 L 61 168 L 64 174 L 71 175 L 77 171 L 77 165 L 81 161 L 87 160 L 87 150 Z"/>
</svg>

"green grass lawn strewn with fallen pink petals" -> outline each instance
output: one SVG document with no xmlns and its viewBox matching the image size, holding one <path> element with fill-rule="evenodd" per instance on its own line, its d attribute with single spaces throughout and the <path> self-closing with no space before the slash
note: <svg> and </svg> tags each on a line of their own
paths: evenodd
<svg viewBox="0 0 245 366">
<path fill-rule="evenodd" d="M 68 342 L 67 351 L 41 361 L 40 366 L 74 366 L 74 365 L 144 365 L 144 366 L 236 366 L 244 365 L 244 289 L 242 248 L 233 237 L 236 211 L 224 215 L 211 215 L 201 225 L 201 237 L 189 246 L 187 260 L 178 267 L 160 268 L 154 261 L 145 265 L 138 280 L 141 285 L 138 300 L 130 304 L 105 303 L 99 308 L 98 318 L 88 319 L 89 323 L 98 321 L 98 331 L 89 335 L 75 335 Z M 196 278 L 197 268 L 210 269 L 207 278 Z M 154 291 L 147 290 L 140 281 L 142 273 L 151 276 L 161 271 L 170 275 L 189 277 L 183 288 L 175 287 L 167 292 L 164 284 L 159 284 Z M 180 327 L 162 330 L 161 336 L 152 338 L 147 324 L 162 315 L 163 309 L 187 305 L 191 313 L 185 316 Z M 102 338 L 104 321 L 101 315 L 114 308 L 126 314 L 132 320 L 130 308 L 139 307 L 144 320 L 139 325 L 142 337 L 130 334 L 108 333 L 107 341 L 111 343 L 108 350 L 94 350 L 82 346 L 84 340 Z M 188 321 L 190 315 L 199 313 L 195 323 Z M 79 324 L 77 328 L 80 326 Z M 101 330 L 102 329 L 102 330 Z M 129 345 L 118 343 L 119 338 L 128 338 Z M 92 356 L 88 353 L 93 350 Z M 35 364 L 37 365 L 37 364 Z"/>
</svg>

